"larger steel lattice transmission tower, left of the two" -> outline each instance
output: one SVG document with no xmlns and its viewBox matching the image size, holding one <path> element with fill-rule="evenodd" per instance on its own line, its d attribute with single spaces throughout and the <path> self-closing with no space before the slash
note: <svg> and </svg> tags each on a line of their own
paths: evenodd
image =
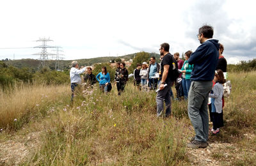
<svg viewBox="0 0 256 166">
<path fill-rule="evenodd" d="M 47 52 L 47 48 L 55 48 L 54 46 L 47 45 L 47 41 L 53 41 L 53 40 L 50 40 L 50 38 L 39 38 L 39 40 L 36 40 L 36 41 L 41 41 L 42 45 L 38 45 L 34 48 L 42 49 L 42 51 L 33 55 L 40 55 L 40 62 L 41 62 L 40 66 L 44 67 L 45 61 L 48 60 L 48 56 L 55 55 Z"/>
</svg>

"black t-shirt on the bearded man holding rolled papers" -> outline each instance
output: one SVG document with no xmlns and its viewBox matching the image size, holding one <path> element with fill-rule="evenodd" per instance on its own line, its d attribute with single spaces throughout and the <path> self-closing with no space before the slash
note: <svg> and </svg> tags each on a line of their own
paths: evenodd
<svg viewBox="0 0 256 166">
<path fill-rule="evenodd" d="M 170 65 L 169 66 L 169 70 L 168 70 L 168 75 L 167 75 L 167 78 L 165 80 L 165 82 L 168 84 L 170 82 L 172 82 L 172 80 L 170 79 L 171 78 L 171 74 L 172 74 L 172 68 L 173 68 L 173 57 L 172 57 L 172 54 L 168 53 L 166 54 L 162 61 L 161 61 L 161 75 L 160 75 L 160 79 L 162 79 L 162 76 L 163 76 L 163 72 L 164 72 L 164 65 L 168 64 Z"/>
</svg>

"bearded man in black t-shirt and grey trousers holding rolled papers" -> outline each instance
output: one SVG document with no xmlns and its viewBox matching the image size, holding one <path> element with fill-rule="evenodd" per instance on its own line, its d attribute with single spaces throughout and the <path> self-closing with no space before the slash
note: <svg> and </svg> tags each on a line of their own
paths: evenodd
<svg viewBox="0 0 256 166">
<path fill-rule="evenodd" d="M 160 54 L 163 55 L 163 60 L 161 61 L 161 82 L 156 96 L 156 104 L 157 104 L 157 117 L 161 116 L 164 110 L 164 102 L 166 106 L 165 117 L 169 117 L 172 112 L 172 103 L 171 103 L 171 95 L 170 88 L 172 85 L 172 70 L 173 63 L 175 63 L 175 59 L 172 54 L 170 54 L 169 49 L 170 45 L 168 43 L 163 43 L 160 45 Z M 164 85 L 166 86 L 164 87 Z"/>
</svg>

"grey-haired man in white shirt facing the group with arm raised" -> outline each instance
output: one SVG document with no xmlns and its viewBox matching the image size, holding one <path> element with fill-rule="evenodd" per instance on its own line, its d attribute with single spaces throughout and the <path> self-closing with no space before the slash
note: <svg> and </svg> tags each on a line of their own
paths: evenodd
<svg viewBox="0 0 256 166">
<path fill-rule="evenodd" d="M 77 61 L 72 61 L 72 68 L 70 69 L 70 82 L 71 82 L 71 102 L 73 102 L 75 89 L 77 86 L 79 86 L 82 82 L 80 74 L 83 73 L 86 70 L 86 67 L 78 69 L 78 63 Z"/>
</svg>

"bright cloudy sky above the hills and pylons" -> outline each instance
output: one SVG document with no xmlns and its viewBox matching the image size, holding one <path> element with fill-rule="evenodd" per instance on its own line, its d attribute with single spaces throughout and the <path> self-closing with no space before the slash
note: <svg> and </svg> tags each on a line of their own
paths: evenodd
<svg viewBox="0 0 256 166">
<path fill-rule="evenodd" d="M 238 63 L 256 58 L 255 17 L 246 0 L 1 1 L 0 59 L 39 59 L 39 38 L 62 47 L 65 59 L 159 52 L 164 42 L 182 54 L 196 50 L 198 28 L 208 24 L 228 63 Z"/>
</svg>

